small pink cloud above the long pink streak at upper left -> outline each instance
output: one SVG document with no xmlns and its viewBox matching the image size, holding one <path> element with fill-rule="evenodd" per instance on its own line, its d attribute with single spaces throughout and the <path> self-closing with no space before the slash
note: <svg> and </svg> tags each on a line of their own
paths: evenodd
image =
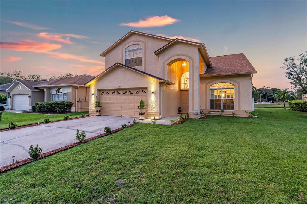
<svg viewBox="0 0 307 204">
<path fill-rule="evenodd" d="M 50 40 L 50 41 L 57 41 L 60 43 L 66 43 L 66 44 L 73 44 L 73 42 L 70 41 L 70 37 L 76 38 L 76 39 L 89 39 L 87 36 L 81 36 L 81 35 L 75 35 L 75 34 L 69 34 L 69 33 L 49 33 L 49 32 L 40 32 L 36 35 L 39 38 Z"/>
</svg>

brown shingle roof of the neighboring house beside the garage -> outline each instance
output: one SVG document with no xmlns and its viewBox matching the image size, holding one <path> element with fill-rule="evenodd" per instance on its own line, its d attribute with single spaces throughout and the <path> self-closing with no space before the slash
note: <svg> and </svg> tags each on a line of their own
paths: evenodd
<svg viewBox="0 0 307 204">
<path fill-rule="evenodd" d="M 54 79 L 50 81 L 40 82 L 37 86 L 46 86 L 46 85 L 63 85 L 63 84 L 76 84 L 76 85 L 84 85 L 87 81 L 90 81 L 94 76 L 83 74 L 76 77 L 69 77 L 64 79 Z"/>
</svg>

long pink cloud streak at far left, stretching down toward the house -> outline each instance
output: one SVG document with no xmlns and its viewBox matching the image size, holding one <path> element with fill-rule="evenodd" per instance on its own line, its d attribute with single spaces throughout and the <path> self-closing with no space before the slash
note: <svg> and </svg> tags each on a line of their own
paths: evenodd
<svg viewBox="0 0 307 204">
<path fill-rule="evenodd" d="M 44 53 L 44 54 L 49 55 L 49 57 L 53 57 L 56 59 L 74 59 L 80 62 L 91 62 L 91 63 L 104 65 L 104 62 L 93 60 L 93 59 L 88 59 L 85 56 L 72 55 L 72 54 L 62 53 L 62 52 L 51 52 L 52 50 L 56 50 L 62 47 L 61 44 L 40 43 L 40 42 L 35 42 L 35 41 L 30 41 L 30 40 L 21 40 L 17 43 L 1 42 L 0 44 L 1 44 L 2 49 Z"/>
</svg>

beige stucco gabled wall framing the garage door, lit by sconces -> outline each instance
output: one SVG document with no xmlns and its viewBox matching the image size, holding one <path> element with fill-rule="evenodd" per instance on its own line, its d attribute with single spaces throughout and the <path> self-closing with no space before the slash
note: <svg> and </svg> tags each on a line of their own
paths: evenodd
<svg viewBox="0 0 307 204">
<path fill-rule="evenodd" d="M 95 100 L 99 90 L 138 87 L 147 87 L 147 117 L 157 117 L 159 115 L 159 81 L 122 66 L 114 67 L 106 75 L 90 84 L 90 113 L 95 114 Z M 151 91 L 154 91 L 154 94 L 151 94 Z M 94 95 L 91 95 L 92 93 Z"/>
</svg>

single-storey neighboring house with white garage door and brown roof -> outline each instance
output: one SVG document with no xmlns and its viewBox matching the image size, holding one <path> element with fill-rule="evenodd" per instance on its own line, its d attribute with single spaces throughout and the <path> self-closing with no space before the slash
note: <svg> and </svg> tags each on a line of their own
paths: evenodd
<svg viewBox="0 0 307 204">
<path fill-rule="evenodd" d="M 55 79 L 51 81 L 28 81 L 14 79 L 7 90 L 10 93 L 10 108 L 14 110 L 31 111 L 36 102 L 68 100 L 74 103 L 71 111 L 88 111 L 89 88 L 84 84 L 93 76 L 80 75 L 76 77 Z"/>
</svg>

